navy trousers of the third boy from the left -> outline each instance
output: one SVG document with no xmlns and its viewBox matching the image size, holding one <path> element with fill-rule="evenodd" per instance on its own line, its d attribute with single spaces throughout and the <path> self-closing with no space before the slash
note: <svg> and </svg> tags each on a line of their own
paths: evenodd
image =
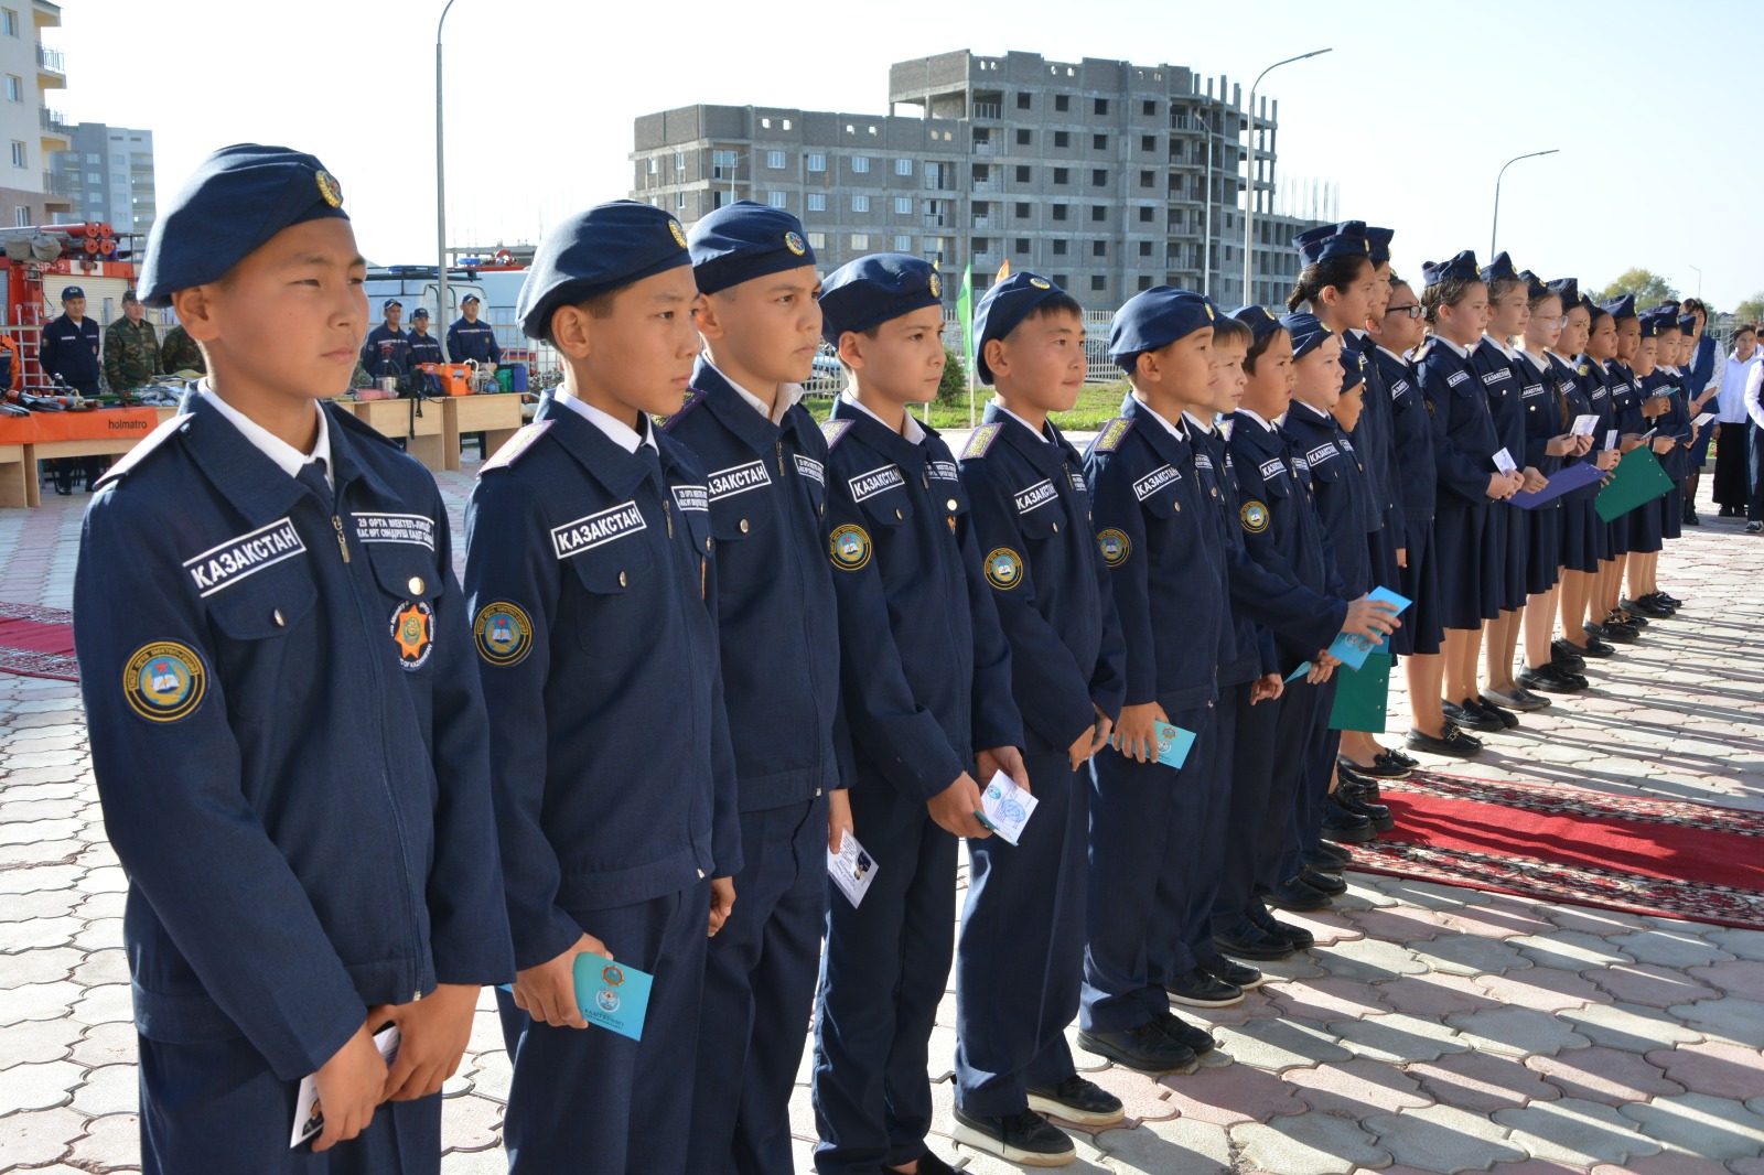
<svg viewBox="0 0 1764 1175">
<path fill-rule="evenodd" d="M 736 910 L 707 946 L 686 1170 L 789 1171 L 790 1090 L 827 917 L 827 797 L 741 813 Z M 840 898 L 843 902 L 843 898 Z"/>
</svg>

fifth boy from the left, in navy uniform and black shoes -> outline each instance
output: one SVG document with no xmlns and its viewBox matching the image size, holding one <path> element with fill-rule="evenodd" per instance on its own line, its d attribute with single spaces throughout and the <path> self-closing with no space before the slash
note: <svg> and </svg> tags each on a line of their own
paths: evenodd
<svg viewBox="0 0 1764 1175">
<path fill-rule="evenodd" d="M 1065 1025 L 1085 949 L 1090 773 L 1125 693 L 1108 565 L 1090 526 L 1083 462 L 1050 411 L 1085 379 L 1076 300 L 1035 273 L 995 284 L 974 311 L 975 374 L 997 399 L 961 452 L 986 582 L 1011 640 L 1013 697 L 1035 813 L 1013 847 L 968 845 L 956 946 L 956 1141 L 1037 1166 L 1076 1157 L 1041 1113 L 1122 1120 L 1118 1097 L 1078 1076 Z"/>
</svg>

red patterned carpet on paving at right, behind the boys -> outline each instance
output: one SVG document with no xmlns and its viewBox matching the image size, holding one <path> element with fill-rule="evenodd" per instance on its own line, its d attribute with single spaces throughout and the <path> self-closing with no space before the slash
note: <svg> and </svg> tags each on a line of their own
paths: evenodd
<svg viewBox="0 0 1764 1175">
<path fill-rule="evenodd" d="M 1416 771 L 1353 868 L 1764 930 L 1764 813 Z"/>
</svg>

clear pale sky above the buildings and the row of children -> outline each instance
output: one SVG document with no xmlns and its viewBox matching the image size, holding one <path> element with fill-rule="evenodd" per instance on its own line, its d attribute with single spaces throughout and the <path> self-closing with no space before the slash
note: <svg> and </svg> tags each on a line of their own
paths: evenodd
<svg viewBox="0 0 1764 1175">
<path fill-rule="evenodd" d="M 1244 12 L 1254 11 L 1254 23 Z M 238 141 L 319 155 L 376 263 L 434 261 L 441 0 L 67 0 L 71 120 L 153 131 L 161 201 Z M 1000 16 L 1004 14 L 1004 19 Z M 448 236 L 533 240 L 628 192 L 632 118 L 691 102 L 886 113 L 887 65 L 951 49 L 1168 62 L 1281 101 L 1286 176 L 1388 224 L 1399 272 L 1499 247 L 1600 286 L 1630 266 L 1732 309 L 1764 291 L 1746 215 L 1764 4 L 1256 5 L 1020 0 L 938 5 L 457 0 L 446 21 Z M 1727 51 L 1741 46 L 1741 53 Z M 1729 155 L 1729 145 L 1743 153 Z M 1305 212 L 1295 208 L 1295 212 Z"/>
</svg>

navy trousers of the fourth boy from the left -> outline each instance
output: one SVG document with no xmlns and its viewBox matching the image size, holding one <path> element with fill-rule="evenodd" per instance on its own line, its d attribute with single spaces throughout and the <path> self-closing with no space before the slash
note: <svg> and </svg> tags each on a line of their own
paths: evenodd
<svg viewBox="0 0 1764 1175">
<path fill-rule="evenodd" d="M 954 953 L 956 838 L 886 785 L 854 787 L 850 797 L 877 872 L 861 907 L 841 893 L 827 902 L 813 1089 L 822 1175 L 877 1175 L 924 1156 L 924 1069 Z"/>
</svg>

